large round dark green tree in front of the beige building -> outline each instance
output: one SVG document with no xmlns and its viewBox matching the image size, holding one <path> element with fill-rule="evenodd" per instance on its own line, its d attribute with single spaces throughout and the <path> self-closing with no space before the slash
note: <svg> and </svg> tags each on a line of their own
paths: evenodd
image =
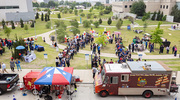
<svg viewBox="0 0 180 100">
<path fill-rule="evenodd" d="M 130 9 L 131 13 L 137 14 L 137 16 L 143 16 L 146 10 L 146 5 L 143 1 L 134 2 Z"/>
</svg>

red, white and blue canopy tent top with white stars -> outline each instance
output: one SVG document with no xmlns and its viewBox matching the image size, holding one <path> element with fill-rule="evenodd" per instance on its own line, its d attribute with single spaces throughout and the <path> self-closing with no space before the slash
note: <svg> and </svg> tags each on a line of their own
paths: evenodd
<svg viewBox="0 0 180 100">
<path fill-rule="evenodd" d="M 68 85 L 73 74 L 72 67 L 45 67 L 38 75 L 35 85 Z"/>
</svg>

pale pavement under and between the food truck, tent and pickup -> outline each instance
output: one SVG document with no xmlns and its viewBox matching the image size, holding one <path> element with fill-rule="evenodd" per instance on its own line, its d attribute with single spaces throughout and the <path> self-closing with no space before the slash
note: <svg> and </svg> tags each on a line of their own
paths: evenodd
<svg viewBox="0 0 180 100">
<path fill-rule="evenodd" d="M 23 69 L 23 71 L 19 71 L 20 81 L 22 82 L 22 77 L 30 72 L 33 69 Z M 34 71 L 41 71 L 41 69 L 35 69 Z M 10 69 L 8 69 L 8 72 L 10 72 Z M 16 71 L 17 72 L 17 71 Z M 92 81 L 92 72 L 91 70 L 74 70 L 74 75 L 80 76 L 80 79 L 83 80 L 82 84 L 78 84 L 78 88 L 75 94 L 73 94 L 72 100 L 146 100 L 142 96 L 108 96 L 106 98 L 100 97 L 98 94 L 94 94 L 93 91 L 93 84 Z M 178 75 L 178 78 L 180 80 L 180 72 Z M 88 83 L 88 84 L 84 84 Z M 180 82 L 178 83 L 180 84 Z M 180 90 L 179 90 L 180 91 Z M 44 100 L 40 99 L 38 96 L 32 95 L 31 91 L 27 92 L 27 96 L 22 96 L 22 91 L 18 90 L 18 88 L 14 89 L 11 92 L 5 93 L 0 96 L 0 100 L 13 100 L 13 95 L 15 95 L 17 100 Z M 53 95 L 54 96 L 54 95 Z M 147 100 L 174 100 L 174 98 L 177 96 L 177 100 L 180 99 L 180 93 L 176 94 L 175 96 L 153 96 L 150 99 Z M 62 100 L 67 100 L 66 93 L 63 95 Z M 55 98 L 53 100 L 59 100 Z"/>
</svg>

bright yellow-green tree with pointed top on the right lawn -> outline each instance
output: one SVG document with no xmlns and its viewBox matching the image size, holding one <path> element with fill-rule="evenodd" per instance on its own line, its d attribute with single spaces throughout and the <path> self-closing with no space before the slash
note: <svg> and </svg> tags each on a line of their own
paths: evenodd
<svg viewBox="0 0 180 100">
<path fill-rule="evenodd" d="M 153 31 L 153 33 L 151 34 L 152 39 L 151 42 L 152 43 L 158 43 L 158 44 L 162 44 L 162 39 L 161 39 L 161 35 L 163 34 L 163 30 L 160 29 L 160 25 L 162 22 L 158 23 L 157 28 Z"/>
</svg>

